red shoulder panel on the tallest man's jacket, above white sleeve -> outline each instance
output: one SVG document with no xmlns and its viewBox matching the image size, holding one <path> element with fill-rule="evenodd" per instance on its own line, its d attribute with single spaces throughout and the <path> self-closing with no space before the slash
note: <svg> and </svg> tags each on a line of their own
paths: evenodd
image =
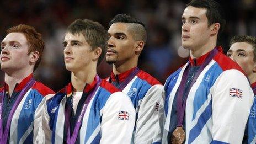
<svg viewBox="0 0 256 144">
<path fill-rule="evenodd" d="M 221 67 L 223 71 L 234 69 L 244 74 L 244 71 L 236 62 L 232 61 L 230 58 L 228 58 L 226 55 L 222 54 L 221 52 L 214 57 L 214 60 L 218 63 L 218 65 Z"/>
</svg>

